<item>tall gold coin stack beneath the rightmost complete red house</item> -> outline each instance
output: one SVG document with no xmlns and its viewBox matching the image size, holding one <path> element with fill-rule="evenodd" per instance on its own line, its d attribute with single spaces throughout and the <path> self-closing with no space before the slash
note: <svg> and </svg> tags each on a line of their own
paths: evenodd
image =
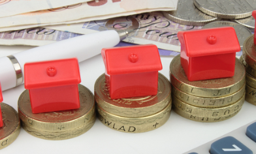
<svg viewBox="0 0 256 154">
<path fill-rule="evenodd" d="M 193 121 L 223 121 L 236 115 L 244 104 L 246 71 L 238 59 L 231 78 L 190 82 L 177 55 L 170 63 L 170 81 L 174 112 Z"/>
</svg>

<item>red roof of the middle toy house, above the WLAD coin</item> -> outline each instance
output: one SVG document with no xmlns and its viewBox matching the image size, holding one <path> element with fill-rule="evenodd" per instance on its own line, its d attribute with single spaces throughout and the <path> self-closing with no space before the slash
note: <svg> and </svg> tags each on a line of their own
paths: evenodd
<svg viewBox="0 0 256 154">
<path fill-rule="evenodd" d="M 157 46 L 153 44 L 103 48 L 107 74 L 128 74 L 163 69 Z"/>
</svg>

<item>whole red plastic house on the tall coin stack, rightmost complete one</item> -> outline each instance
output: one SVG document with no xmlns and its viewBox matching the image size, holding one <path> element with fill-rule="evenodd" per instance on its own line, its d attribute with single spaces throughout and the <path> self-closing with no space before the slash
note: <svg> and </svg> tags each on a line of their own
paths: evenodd
<svg viewBox="0 0 256 154">
<path fill-rule="evenodd" d="M 240 44 L 233 27 L 179 31 L 180 62 L 189 81 L 234 76 Z"/>
</svg>

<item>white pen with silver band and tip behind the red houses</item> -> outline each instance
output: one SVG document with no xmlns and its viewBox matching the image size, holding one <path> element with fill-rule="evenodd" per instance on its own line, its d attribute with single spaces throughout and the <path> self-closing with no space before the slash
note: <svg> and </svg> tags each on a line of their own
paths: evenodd
<svg viewBox="0 0 256 154">
<path fill-rule="evenodd" d="M 84 61 L 97 54 L 102 48 L 116 46 L 131 31 L 101 31 L 88 35 L 61 40 L 45 46 L 32 48 L 7 57 L 0 58 L 0 82 L 2 90 L 23 84 L 24 64 L 33 61 L 47 61 L 77 57 Z"/>
</svg>

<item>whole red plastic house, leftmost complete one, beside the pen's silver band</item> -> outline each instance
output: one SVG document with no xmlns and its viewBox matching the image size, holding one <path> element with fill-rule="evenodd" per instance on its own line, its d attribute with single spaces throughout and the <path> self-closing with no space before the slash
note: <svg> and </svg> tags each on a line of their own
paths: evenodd
<svg viewBox="0 0 256 154">
<path fill-rule="evenodd" d="M 33 114 L 80 108 L 78 60 L 25 63 L 24 84 Z"/>
</svg>

